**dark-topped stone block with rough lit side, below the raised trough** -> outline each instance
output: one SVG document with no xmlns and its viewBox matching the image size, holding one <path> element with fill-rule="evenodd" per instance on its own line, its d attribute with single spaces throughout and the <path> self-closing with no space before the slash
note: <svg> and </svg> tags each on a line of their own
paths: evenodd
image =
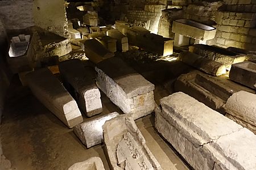
<svg viewBox="0 0 256 170">
<path fill-rule="evenodd" d="M 230 70 L 233 63 L 245 61 L 244 54 L 233 53 L 218 46 L 196 44 L 189 46 L 189 52 L 196 53 L 205 58 L 222 63 L 226 66 L 227 70 Z"/>
</svg>

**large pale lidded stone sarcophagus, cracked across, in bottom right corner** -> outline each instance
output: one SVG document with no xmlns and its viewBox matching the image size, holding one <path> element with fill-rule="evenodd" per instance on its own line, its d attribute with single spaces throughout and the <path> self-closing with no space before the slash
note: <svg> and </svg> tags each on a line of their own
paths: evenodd
<svg viewBox="0 0 256 170">
<path fill-rule="evenodd" d="M 256 135 L 178 92 L 160 100 L 155 127 L 194 169 L 256 169 Z"/>
</svg>

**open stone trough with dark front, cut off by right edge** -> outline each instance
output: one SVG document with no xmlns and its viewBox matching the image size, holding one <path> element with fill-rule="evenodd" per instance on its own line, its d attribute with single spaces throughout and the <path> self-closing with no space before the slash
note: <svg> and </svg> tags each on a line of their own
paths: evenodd
<svg viewBox="0 0 256 170">
<path fill-rule="evenodd" d="M 256 89 L 256 63 L 245 61 L 233 64 L 229 72 L 229 78 Z"/>
</svg>

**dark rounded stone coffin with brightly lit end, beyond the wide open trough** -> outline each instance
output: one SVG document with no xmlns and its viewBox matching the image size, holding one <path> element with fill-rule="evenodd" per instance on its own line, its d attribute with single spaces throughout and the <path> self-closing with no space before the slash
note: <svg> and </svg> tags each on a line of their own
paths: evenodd
<svg viewBox="0 0 256 170">
<path fill-rule="evenodd" d="M 191 52 L 182 52 L 179 55 L 182 62 L 204 71 L 210 75 L 221 75 L 226 73 L 226 67 L 221 63 L 212 61 Z"/>
</svg>

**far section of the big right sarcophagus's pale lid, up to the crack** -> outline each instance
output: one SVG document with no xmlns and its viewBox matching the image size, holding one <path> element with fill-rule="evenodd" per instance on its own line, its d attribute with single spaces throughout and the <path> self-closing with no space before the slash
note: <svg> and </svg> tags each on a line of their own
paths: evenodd
<svg viewBox="0 0 256 170">
<path fill-rule="evenodd" d="M 212 141 L 243 127 L 210 109 L 193 97 L 177 92 L 160 100 L 163 109 L 170 111 L 205 141 Z M 170 113 L 167 113 L 170 114 Z"/>
</svg>

